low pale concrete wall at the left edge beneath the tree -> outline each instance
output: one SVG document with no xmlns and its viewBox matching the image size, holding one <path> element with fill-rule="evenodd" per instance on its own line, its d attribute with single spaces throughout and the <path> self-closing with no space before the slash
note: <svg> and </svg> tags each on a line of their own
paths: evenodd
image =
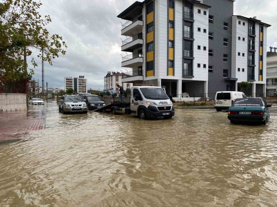
<svg viewBox="0 0 277 207">
<path fill-rule="evenodd" d="M 0 94 L 0 111 L 17 111 L 26 109 L 26 94 Z"/>
</svg>

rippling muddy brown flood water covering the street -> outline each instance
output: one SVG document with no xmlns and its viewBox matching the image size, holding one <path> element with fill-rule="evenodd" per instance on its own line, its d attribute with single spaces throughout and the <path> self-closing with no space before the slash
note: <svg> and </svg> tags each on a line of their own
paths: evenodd
<svg viewBox="0 0 277 207">
<path fill-rule="evenodd" d="M 0 206 L 277 206 L 277 116 L 176 109 L 169 120 L 63 115 L 0 145 Z"/>
</svg>

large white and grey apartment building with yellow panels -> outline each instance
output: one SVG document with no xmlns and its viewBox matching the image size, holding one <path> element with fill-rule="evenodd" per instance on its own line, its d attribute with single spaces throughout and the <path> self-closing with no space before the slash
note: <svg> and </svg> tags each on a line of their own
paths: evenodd
<svg viewBox="0 0 277 207">
<path fill-rule="evenodd" d="M 118 15 L 122 24 L 122 82 L 162 86 L 179 95 L 265 91 L 267 27 L 256 17 L 233 15 L 235 0 L 145 0 Z"/>
</svg>

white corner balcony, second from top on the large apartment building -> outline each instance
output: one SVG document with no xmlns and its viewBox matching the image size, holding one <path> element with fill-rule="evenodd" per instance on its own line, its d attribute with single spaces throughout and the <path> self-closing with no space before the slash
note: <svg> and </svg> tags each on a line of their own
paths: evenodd
<svg viewBox="0 0 277 207">
<path fill-rule="evenodd" d="M 121 51 L 133 52 L 134 49 L 140 48 L 143 45 L 143 34 L 139 33 L 122 41 Z"/>
</svg>

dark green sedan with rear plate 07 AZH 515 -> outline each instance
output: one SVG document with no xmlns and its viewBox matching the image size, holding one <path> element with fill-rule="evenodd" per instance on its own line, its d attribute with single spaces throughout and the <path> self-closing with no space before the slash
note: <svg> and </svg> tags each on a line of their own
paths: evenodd
<svg viewBox="0 0 277 207">
<path fill-rule="evenodd" d="M 269 120 L 270 104 L 263 98 L 238 98 L 228 110 L 231 123 L 252 122 L 266 125 Z"/>
</svg>

